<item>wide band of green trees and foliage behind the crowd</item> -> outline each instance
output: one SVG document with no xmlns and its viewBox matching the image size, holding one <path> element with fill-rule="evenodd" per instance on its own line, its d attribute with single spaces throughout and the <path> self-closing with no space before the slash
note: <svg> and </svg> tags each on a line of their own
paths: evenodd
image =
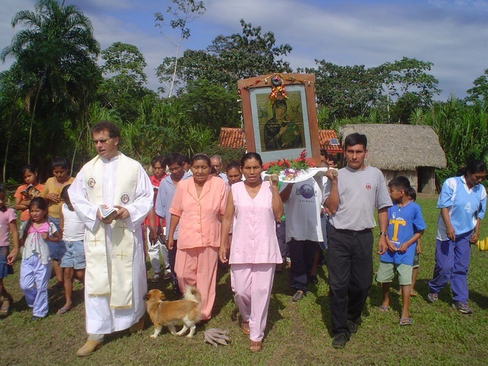
<svg viewBox="0 0 488 366">
<path fill-rule="evenodd" d="M 156 154 L 180 151 L 219 153 L 225 162 L 242 151 L 218 148 L 220 127 L 242 125 L 237 80 L 273 72 L 292 72 L 287 43 L 273 32 L 240 21 L 242 32 L 220 34 L 205 49 L 180 44 L 189 25 L 205 12 L 202 1 L 173 0 L 156 26 L 177 32 L 175 56 L 167 56 L 156 76 L 169 90 L 161 97 L 146 87 L 144 55 L 132 44 L 114 42 L 100 51 L 92 24 L 80 8 L 39 0 L 34 11 L 19 11 L 12 25 L 23 28 L 1 58 L 12 57 L 0 75 L 0 152 L 3 180 L 20 179 L 20 166 L 39 166 L 49 176 L 54 156 L 71 161 L 73 174 L 94 154 L 89 127 L 106 119 L 122 127 L 125 153 L 147 164 Z M 167 34 L 165 34 L 166 36 Z M 101 53 L 101 66 L 96 57 Z M 315 61 L 296 70 L 315 74 L 320 128 L 337 130 L 351 123 L 432 125 L 453 175 L 468 158 L 488 160 L 488 69 L 473 82 L 462 101 L 453 96 L 434 102 L 439 93 L 432 63 L 403 57 L 377 67 Z M 161 90 L 160 90 L 161 92 Z"/>
</svg>

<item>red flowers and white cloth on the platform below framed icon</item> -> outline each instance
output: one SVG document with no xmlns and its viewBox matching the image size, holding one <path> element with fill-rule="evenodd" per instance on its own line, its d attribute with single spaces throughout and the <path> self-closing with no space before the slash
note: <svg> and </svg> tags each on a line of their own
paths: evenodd
<svg viewBox="0 0 488 366">
<path fill-rule="evenodd" d="M 316 168 L 313 160 L 306 158 L 306 155 L 304 149 L 295 160 L 282 159 L 264 164 L 263 179 L 275 174 L 280 182 L 298 183 L 315 175 L 325 175 L 327 168 Z"/>
</svg>

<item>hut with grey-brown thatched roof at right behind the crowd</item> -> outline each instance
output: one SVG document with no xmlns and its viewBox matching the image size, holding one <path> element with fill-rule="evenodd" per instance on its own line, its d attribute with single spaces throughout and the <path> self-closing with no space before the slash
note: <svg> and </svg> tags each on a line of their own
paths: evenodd
<svg viewBox="0 0 488 366">
<path fill-rule="evenodd" d="M 344 138 L 358 132 L 368 137 L 366 163 L 382 170 L 387 181 L 405 175 L 420 192 L 434 193 L 434 168 L 446 167 L 446 156 L 437 134 L 420 125 L 344 125 Z"/>
</svg>

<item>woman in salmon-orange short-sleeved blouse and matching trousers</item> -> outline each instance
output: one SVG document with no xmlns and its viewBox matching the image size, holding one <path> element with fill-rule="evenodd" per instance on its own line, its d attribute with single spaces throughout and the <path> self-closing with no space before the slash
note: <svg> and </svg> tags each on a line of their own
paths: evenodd
<svg viewBox="0 0 488 366">
<path fill-rule="evenodd" d="M 196 286 L 201 293 L 201 320 L 212 317 L 217 279 L 220 220 L 227 189 L 220 177 L 210 177 L 210 158 L 196 154 L 191 161 L 193 176 L 180 181 L 171 203 L 168 249 L 178 224 L 175 272 L 180 291 Z"/>
</svg>

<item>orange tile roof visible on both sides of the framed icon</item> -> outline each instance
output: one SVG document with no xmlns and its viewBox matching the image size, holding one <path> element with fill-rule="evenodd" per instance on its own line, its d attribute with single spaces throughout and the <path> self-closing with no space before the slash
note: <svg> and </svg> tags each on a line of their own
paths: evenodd
<svg viewBox="0 0 488 366">
<path fill-rule="evenodd" d="M 320 149 L 330 153 L 342 153 L 342 148 L 334 130 L 318 130 Z M 330 139 L 337 139 L 338 144 L 331 144 Z M 218 146 L 239 149 L 246 146 L 244 130 L 242 128 L 221 127 Z"/>
</svg>

